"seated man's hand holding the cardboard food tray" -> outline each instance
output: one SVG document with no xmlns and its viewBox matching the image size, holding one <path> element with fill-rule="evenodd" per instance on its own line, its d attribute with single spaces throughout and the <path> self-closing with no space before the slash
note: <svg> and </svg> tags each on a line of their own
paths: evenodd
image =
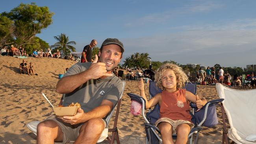
<svg viewBox="0 0 256 144">
<path fill-rule="evenodd" d="M 75 124 L 80 124 L 82 122 L 86 122 L 84 116 L 85 114 L 83 113 L 83 109 L 79 108 L 77 114 L 74 116 L 63 116 L 58 118 L 63 120 L 63 122 L 69 123 L 71 125 L 75 125 Z"/>
</svg>

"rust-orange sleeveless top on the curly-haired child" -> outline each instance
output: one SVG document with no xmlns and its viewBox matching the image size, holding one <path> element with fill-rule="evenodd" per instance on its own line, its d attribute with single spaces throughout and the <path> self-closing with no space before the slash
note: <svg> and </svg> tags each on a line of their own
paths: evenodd
<svg viewBox="0 0 256 144">
<path fill-rule="evenodd" d="M 178 89 L 175 92 L 161 92 L 160 118 L 171 120 L 187 120 L 191 122 L 189 101 L 186 102 L 186 90 Z"/>
</svg>

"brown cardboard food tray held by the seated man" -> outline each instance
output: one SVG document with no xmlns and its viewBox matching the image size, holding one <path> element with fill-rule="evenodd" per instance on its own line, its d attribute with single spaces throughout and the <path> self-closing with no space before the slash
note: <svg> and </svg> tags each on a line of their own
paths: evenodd
<svg viewBox="0 0 256 144">
<path fill-rule="evenodd" d="M 63 117 L 63 116 L 74 116 L 76 115 L 79 107 L 78 106 L 71 106 L 71 107 L 54 107 L 54 113 L 56 116 Z"/>
</svg>

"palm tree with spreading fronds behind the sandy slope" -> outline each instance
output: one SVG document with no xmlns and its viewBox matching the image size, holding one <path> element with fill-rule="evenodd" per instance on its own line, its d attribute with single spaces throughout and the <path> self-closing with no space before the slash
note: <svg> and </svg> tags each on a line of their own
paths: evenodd
<svg viewBox="0 0 256 144">
<path fill-rule="evenodd" d="M 51 48 L 59 49 L 63 52 L 64 56 L 69 55 L 70 52 L 76 52 L 76 48 L 70 44 L 76 44 L 75 41 L 69 41 L 69 37 L 65 33 L 61 33 L 58 36 L 54 36 L 58 42 L 51 46 Z M 71 50 L 71 51 L 70 51 Z"/>
</svg>

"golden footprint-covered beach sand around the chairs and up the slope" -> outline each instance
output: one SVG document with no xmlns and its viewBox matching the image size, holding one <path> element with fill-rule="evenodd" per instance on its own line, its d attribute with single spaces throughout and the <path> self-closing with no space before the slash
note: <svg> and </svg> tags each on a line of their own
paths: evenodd
<svg viewBox="0 0 256 144">
<path fill-rule="evenodd" d="M 64 59 L 33 57 L 26 58 L 26 63 L 33 62 L 38 76 L 21 75 L 19 65 L 23 59 L 0 56 L 0 144 L 35 144 L 36 136 L 26 127 L 26 123 L 44 120 L 53 115 L 50 104 L 43 98 L 46 94 L 50 102 L 57 106 L 61 94 L 56 92 L 58 75 L 63 74 L 75 62 Z M 148 84 L 146 84 L 146 95 Z M 124 95 L 117 127 L 121 144 L 145 143 L 145 129 L 142 116 L 130 113 L 130 98 L 127 92 L 139 94 L 137 81 L 126 81 Z M 198 85 L 197 94 L 206 100 L 217 99 L 215 86 Z M 204 127 L 200 132 L 198 144 L 221 144 L 222 118 L 221 108 L 217 105 L 219 124 L 214 127 Z M 113 125 L 110 123 L 110 126 Z M 102 142 L 107 143 L 106 141 Z"/>
</svg>

